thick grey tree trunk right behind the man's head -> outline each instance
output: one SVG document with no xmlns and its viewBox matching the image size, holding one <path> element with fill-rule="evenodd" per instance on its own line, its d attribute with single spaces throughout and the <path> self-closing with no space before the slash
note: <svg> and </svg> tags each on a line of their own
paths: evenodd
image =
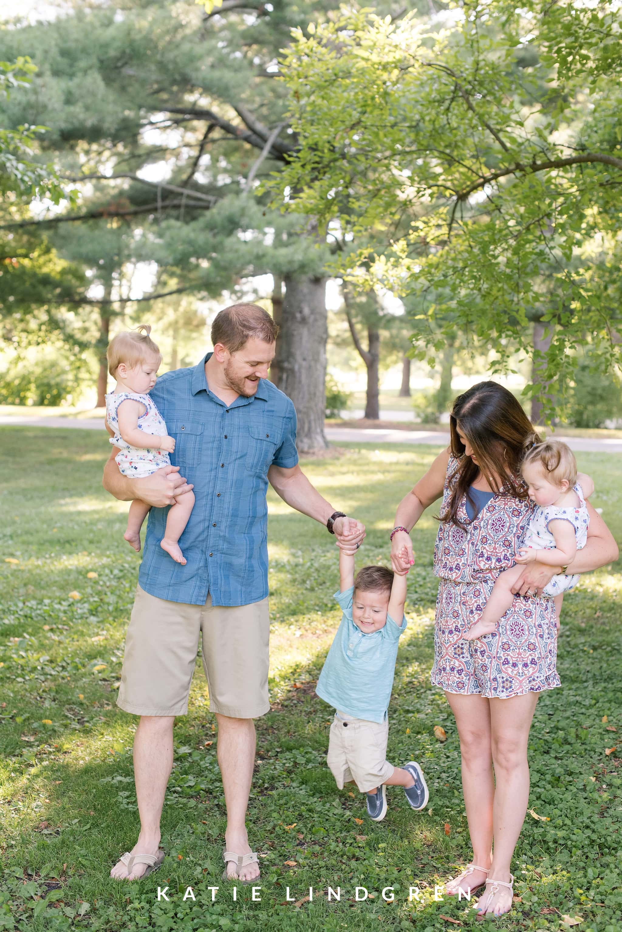
<svg viewBox="0 0 622 932">
<path fill-rule="evenodd" d="M 286 276 L 281 334 L 277 342 L 277 388 L 291 398 L 298 415 L 301 453 L 325 450 L 326 279 Z"/>
</svg>

